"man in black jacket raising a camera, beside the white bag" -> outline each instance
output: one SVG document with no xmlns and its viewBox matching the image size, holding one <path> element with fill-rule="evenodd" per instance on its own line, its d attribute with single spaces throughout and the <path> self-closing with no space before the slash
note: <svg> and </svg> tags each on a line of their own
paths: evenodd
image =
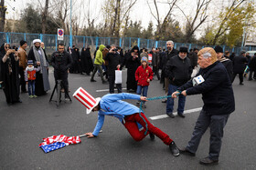
<svg viewBox="0 0 256 170">
<path fill-rule="evenodd" d="M 108 75 L 109 75 L 109 85 L 110 94 L 114 93 L 114 81 L 115 81 L 115 70 L 120 69 L 121 56 L 117 53 L 117 48 L 115 45 L 111 45 L 109 53 L 105 57 L 105 61 L 108 61 Z M 135 76 L 135 75 L 134 75 Z M 117 92 L 122 93 L 122 84 L 116 84 Z"/>
</svg>

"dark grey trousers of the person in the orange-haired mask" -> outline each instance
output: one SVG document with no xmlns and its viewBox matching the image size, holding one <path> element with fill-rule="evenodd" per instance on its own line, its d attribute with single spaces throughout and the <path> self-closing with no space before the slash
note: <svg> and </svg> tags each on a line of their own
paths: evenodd
<svg viewBox="0 0 256 170">
<path fill-rule="evenodd" d="M 221 138 L 223 137 L 223 129 L 227 124 L 228 119 L 229 115 L 208 115 L 202 110 L 197 118 L 193 135 L 187 145 L 187 150 L 191 153 L 197 152 L 201 137 L 209 127 L 210 138 L 208 158 L 211 160 L 219 160 Z"/>
</svg>

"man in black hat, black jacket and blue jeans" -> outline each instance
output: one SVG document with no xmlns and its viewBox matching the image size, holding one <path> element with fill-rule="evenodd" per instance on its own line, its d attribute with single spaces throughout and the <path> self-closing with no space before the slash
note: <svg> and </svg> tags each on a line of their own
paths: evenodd
<svg viewBox="0 0 256 170">
<path fill-rule="evenodd" d="M 165 75 L 169 78 L 168 95 L 172 95 L 178 86 L 184 85 L 191 78 L 192 66 L 190 59 L 187 57 L 187 47 L 180 47 L 179 54 L 169 59 L 165 66 Z M 179 95 L 177 115 L 185 117 L 183 114 L 186 97 Z M 173 115 L 174 99 L 167 98 L 166 115 L 175 118 Z"/>
</svg>

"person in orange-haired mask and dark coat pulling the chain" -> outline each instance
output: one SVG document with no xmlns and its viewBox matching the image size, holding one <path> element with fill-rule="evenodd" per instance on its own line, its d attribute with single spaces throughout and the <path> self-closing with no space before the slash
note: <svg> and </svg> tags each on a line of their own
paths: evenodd
<svg viewBox="0 0 256 170">
<path fill-rule="evenodd" d="M 201 78 L 202 83 L 193 85 L 193 80 L 177 88 L 172 94 L 197 95 L 202 94 L 204 102 L 203 109 L 197 118 L 193 135 L 187 147 L 180 149 L 182 154 L 195 156 L 202 135 L 210 128 L 210 146 L 208 156 L 200 160 L 201 165 L 213 165 L 219 163 L 221 138 L 223 128 L 229 115 L 235 110 L 235 99 L 229 75 L 224 65 L 217 61 L 213 48 L 206 47 L 198 52 L 198 62 L 201 69 L 196 75 Z"/>
</svg>

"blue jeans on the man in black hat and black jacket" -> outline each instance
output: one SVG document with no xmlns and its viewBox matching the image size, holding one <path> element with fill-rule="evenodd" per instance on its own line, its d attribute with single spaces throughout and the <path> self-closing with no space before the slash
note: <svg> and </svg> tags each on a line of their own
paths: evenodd
<svg viewBox="0 0 256 170">
<path fill-rule="evenodd" d="M 169 84 L 168 86 L 168 95 L 172 95 L 178 86 Z M 178 106 L 177 106 L 177 113 L 183 114 L 184 107 L 186 103 L 186 96 L 184 95 L 178 95 Z M 174 111 L 174 98 L 168 97 L 166 102 L 166 114 L 173 113 Z"/>
</svg>

